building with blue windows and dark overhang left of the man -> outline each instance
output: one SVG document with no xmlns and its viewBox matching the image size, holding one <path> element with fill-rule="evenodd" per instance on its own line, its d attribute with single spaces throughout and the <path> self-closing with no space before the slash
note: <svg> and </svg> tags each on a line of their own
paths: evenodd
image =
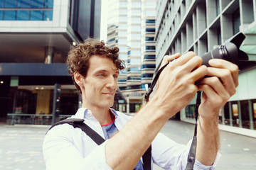
<svg viewBox="0 0 256 170">
<path fill-rule="evenodd" d="M 51 124 L 79 96 L 65 64 L 70 45 L 100 38 L 100 0 L 0 0 L 0 118 Z"/>
</svg>

